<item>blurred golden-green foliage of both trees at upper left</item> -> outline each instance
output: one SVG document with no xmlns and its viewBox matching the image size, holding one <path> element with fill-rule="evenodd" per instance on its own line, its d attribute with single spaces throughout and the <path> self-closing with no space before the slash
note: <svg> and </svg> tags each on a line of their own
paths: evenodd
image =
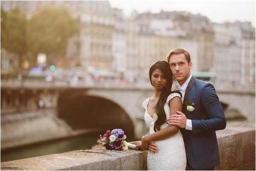
<svg viewBox="0 0 256 171">
<path fill-rule="evenodd" d="M 64 55 L 68 40 L 79 31 L 79 20 L 68 9 L 45 7 L 28 20 L 19 9 L 1 9 L 1 47 L 22 58 L 38 53 L 58 57 Z"/>
</svg>

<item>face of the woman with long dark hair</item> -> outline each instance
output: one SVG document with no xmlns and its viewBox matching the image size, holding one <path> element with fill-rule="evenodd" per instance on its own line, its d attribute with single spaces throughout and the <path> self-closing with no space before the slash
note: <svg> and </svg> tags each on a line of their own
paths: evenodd
<svg viewBox="0 0 256 171">
<path fill-rule="evenodd" d="M 163 72 L 159 69 L 156 69 L 152 72 L 151 82 L 155 89 L 161 90 L 167 84 L 166 75 L 163 75 Z"/>
</svg>

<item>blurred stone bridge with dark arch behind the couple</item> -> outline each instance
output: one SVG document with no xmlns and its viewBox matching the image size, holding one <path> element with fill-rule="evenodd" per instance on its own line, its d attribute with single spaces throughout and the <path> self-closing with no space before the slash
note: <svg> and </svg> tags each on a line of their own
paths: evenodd
<svg viewBox="0 0 256 171">
<path fill-rule="evenodd" d="M 227 109 L 255 122 L 255 90 L 223 90 L 216 87 Z M 57 116 L 74 129 L 123 128 L 129 136 L 145 134 L 141 104 L 152 96 L 150 84 L 83 82 L 1 82 L 1 116 L 11 112 L 53 107 Z M 17 111 L 18 110 L 18 111 Z M 111 126 L 111 127 L 110 127 Z"/>
</svg>

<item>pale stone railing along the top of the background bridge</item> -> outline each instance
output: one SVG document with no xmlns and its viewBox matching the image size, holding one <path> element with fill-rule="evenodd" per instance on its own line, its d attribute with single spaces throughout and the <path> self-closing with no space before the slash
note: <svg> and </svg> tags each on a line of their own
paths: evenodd
<svg viewBox="0 0 256 171">
<path fill-rule="evenodd" d="M 226 85 L 214 84 L 217 92 L 223 93 L 252 93 L 255 94 L 255 85 Z M 44 81 L 38 79 L 1 79 L 1 88 L 31 88 L 31 89 L 47 89 L 47 88 L 105 88 L 105 89 L 148 89 L 153 90 L 149 82 L 127 83 L 121 81 L 108 82 L 87 82 L 87 81 Z"/>
</svg>

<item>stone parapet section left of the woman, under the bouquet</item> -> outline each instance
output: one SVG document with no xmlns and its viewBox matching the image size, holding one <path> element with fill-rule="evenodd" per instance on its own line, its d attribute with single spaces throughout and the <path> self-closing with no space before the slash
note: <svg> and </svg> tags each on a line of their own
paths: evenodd
<svg viewBox="0 0 256 171">
<path fill-rule="evenodd" d="M 1 170 L 147 170 L 147 152 L 110 151 L 97 146 L 91 150 L 1 162 Z"/>
</svg>

